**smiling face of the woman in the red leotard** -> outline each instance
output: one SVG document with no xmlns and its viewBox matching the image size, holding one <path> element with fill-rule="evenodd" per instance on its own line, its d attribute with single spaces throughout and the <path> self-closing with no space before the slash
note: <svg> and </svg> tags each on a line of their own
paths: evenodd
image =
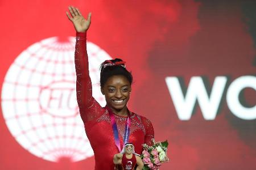
<svg viewBox="0 0 256 170">
<path fill-rule="evenodd" d="M 126 104 L 130 99 L 131 85 L 123 75 L 113 75 L 106 81 L 101 88 L 102 94 L 105 95 L 106 103 L 113 112 L 126 109 Z"/>
</svg>

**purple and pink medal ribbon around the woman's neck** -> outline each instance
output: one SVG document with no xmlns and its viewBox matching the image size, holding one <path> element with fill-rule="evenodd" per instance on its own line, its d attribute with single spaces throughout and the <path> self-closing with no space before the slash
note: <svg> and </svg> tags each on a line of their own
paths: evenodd
<svg viewBox="0 0 256 170">
<path fill-rule="evenodd" d="M 115 122 L 114 113 L 108 107 L 106 107 L 106 109 L 109 111 L 109 117 L 111 120 L 111 125 L 114 133 L 115 145 L 117 146 L 118 151 L 121 152 L 121 143 L 118 135 L 117 122 Z M 130 120 L 130 114 L 128 113 L 127 121 L 125 122 L 125 137 L 123 139 L 123 146 L 125 146 L 125 143 L 129 142 L 130 126 L 131 126 L 131 120 Z"/>
</svg>

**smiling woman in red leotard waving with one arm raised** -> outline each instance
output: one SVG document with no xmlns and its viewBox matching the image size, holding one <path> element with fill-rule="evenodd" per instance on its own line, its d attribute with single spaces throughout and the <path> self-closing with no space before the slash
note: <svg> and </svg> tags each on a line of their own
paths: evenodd
<svg viewBox="0 0 256 170">
<path fill-rule="evenodd" d="M 101 92 L 106 107 L 92 97 L 89 77 L 86 31 L 90 16 L 84 19 L 78 8 L 69 7 L 68 19 L 76 29 L 76 92 L 85 132 L 93 148 L 95 169 L 114 169 L 113 156 L 122 150 L 123 143 L 133 143 L 135 152 L 142 153 L 142 144 L 151 145 L 154 129 L 151 122 L 127 109 L 133 77 L 121 59 L 105 61 L 101 65 Z"/>
</svg>

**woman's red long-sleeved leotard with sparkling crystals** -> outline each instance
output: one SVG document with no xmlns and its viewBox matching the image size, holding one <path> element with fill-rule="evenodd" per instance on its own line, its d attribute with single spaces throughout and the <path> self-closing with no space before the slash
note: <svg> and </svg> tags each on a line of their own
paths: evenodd
<svg viewBox="0 0 256 170">
<path fill-rule="evenodd" d="M 114 169 L 113 156 L 118 153 L 118 149 L 115 146 L 108 110 L 105 107 L 102 108 L 92 96 L 92 83 L 89 77 L 88 54 L 86 52 L 86 32 L 76 33 L 75 66 L 77 103 L 85 125 L 86 135 L 94 151 L 95 169 L 112 170 Z M 127 117 L 116 114 L 114 116 L 122 145 Z M 130 117 L 129 142 L 133 143 L 135 152 L 141 154 L 143 143 L 151 145 L 154 129 L 147 118 L 135 113 L 131 113 Z"/>
</svg>

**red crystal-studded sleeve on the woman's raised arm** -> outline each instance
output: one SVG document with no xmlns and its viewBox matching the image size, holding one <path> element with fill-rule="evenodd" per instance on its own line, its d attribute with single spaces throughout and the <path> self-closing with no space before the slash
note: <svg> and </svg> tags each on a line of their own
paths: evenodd
<svg viewBox="0 0 256 170">
<path fill-rule="evenodd" d="M 92 82 L 89 76 L 86 32 L 76 33 L 75 47 L 76 96 L 79 111 L 84 123 L 94 121 L 105 111 L 92 96 Z"/>
</svg>

